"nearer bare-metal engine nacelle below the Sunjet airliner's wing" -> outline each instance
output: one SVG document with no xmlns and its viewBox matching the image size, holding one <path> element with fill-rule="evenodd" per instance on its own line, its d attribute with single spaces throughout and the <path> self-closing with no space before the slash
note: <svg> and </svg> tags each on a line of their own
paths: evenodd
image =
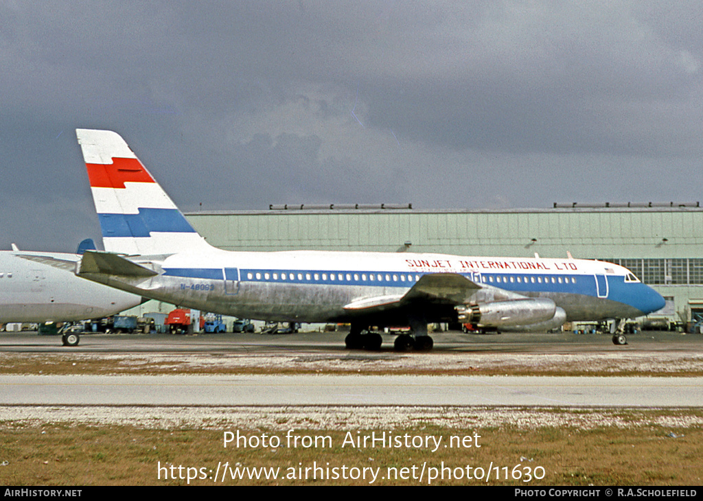
<svg viewBox="0 0 703 501">
<path fill-rule="evenodd" d="M 536 298 L 456 306 L 456 311 L 462 323 L 479 327 L 517 327 L 553 320 L 557 306 L 551 299 Z"/>
</svg>

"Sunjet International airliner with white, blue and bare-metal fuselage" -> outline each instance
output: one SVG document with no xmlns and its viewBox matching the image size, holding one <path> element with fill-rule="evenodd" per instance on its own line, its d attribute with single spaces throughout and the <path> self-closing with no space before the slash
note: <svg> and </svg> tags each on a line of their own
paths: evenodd
<svg viewBox="0 0 703 501">
<path fill-rule="evenodd" d="M 427 324 L 548 330 L 635 318 L 664 299 L 626 268 L 583 259 L 382 252 L 228 252 L 205 242 L 115 132 L 77 130 L 105 252 L 77 275 L 205 311 L 283 322 L 344 322 L 352 348 L 371 326 L 408 325 L 396 349 L 428 350 Z M 626 339 L 616 333 L 614 342 Z"/>
</svg>

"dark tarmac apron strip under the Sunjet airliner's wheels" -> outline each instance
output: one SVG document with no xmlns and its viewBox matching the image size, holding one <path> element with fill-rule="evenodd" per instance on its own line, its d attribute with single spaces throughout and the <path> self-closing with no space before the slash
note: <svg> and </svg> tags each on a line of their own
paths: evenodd
<svg viewBox="0 0 703 501">
<path fill-rule="evenodd" d="M 79 346 L 61 346 L 58 336 L 34 332 L 0 332 L 0 353 L 349 353 L 344 332 L 299 334 L 86 334 Z M 641 332 L 628 335 L 629 344 L 615 346 L 609 334 L 432 334 L 432 353 L 625 353 L 631 351 L 703 351 L 703 334 Z M 383 334 L 378 353 L 393 353 L 395 336 Z"/>
</svg>

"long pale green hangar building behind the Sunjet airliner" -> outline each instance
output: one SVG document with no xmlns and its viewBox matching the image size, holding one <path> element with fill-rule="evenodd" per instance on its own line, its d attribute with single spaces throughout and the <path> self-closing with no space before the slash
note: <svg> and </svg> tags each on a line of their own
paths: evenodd
<svg viewBox="0 0 703 501">
<path fill-rule="evenodd" d="M 703 208 L 685 204 L 554 204 L 548 209 L 420 210 L 411 205 L 288 205 L 186 214 L 215 247 L 437 252 L 560 258 L 571 252 L 629 268 L 666 298 L 654 316 L 703 315 Z"/>
</svg>

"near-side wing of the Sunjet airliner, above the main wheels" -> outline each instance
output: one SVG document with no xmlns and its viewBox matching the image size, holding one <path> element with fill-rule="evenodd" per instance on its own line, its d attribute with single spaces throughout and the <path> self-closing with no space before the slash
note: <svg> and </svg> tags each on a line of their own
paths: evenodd
<svg viewBox="0 0 703 501">
<path fill-rule="evenodd" d="M 456 306 L 469 302 L 470 297 L 481 288 L 476 282 L 458 273 L 432 273 L 420 277 L 405 294 L 360 299 L 344 305 L 344 309 L 359 313 L 379 313 L 414 301 Z"/>
</svg>

